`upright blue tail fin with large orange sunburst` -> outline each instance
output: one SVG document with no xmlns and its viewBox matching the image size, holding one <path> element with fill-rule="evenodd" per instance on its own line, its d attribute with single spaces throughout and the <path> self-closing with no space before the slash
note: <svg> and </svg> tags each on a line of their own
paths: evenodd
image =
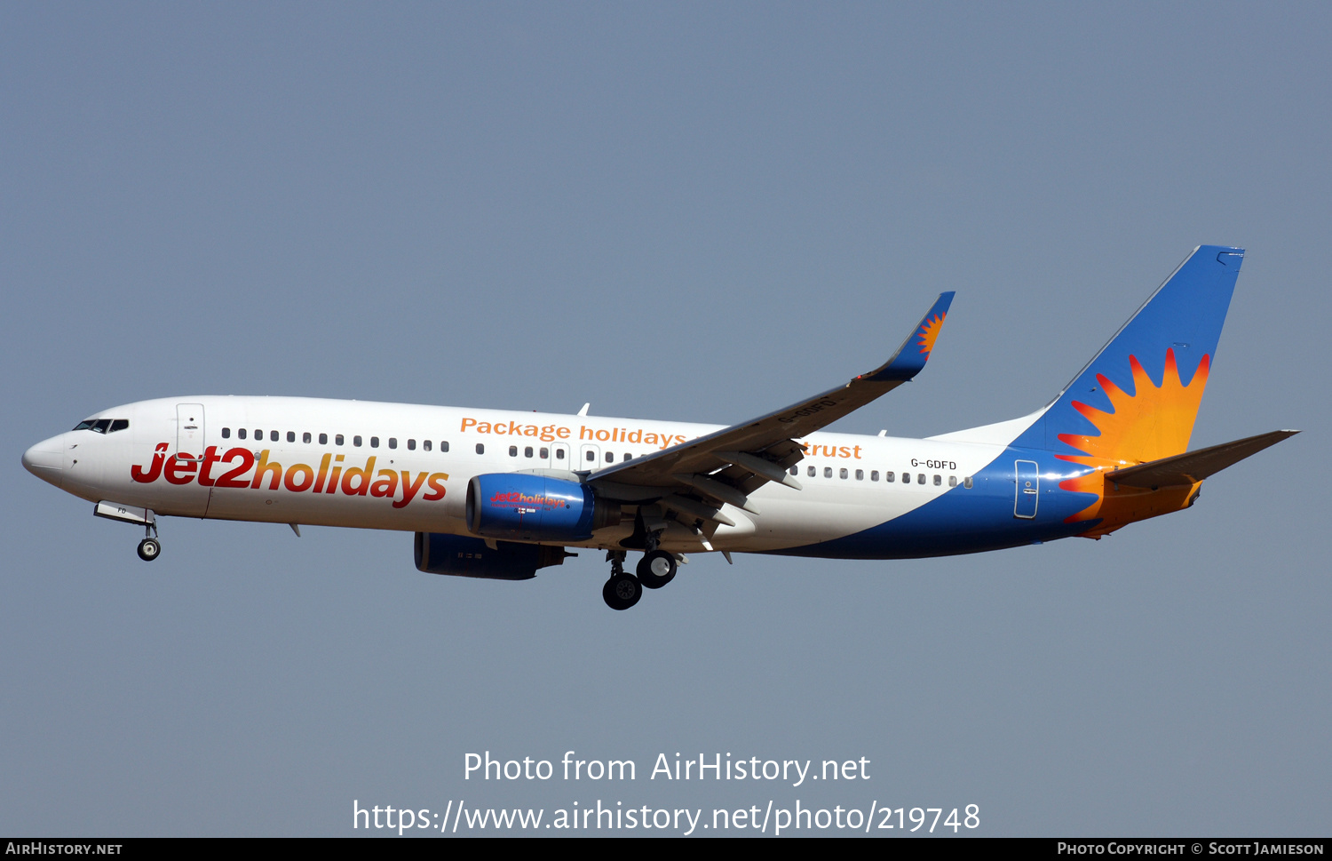
<svg viewBox="0 0 1332 861">
<path fill-rule="evenodd" d="M 1111 468 L 1185 452 L 1243 261 L 1195 248 L 1014 445 Z"/>
</svg>

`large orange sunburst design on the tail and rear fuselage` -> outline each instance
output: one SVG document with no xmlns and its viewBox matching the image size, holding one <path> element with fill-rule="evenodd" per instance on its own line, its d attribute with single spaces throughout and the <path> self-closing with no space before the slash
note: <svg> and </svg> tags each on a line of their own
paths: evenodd
<svg viewBox="0 0 1332 861">
<path fill-rule="evenodd" d="M 1203 400 L 1203 391 L 1207 388 L 1211 359 L 1203 356 L 1188 385 L 1180 383 L 1173 349 L 1166 351 L 1166 368 L 1160 385 L 1152 383 L 1136 356 L 1130 356 L 1128 364 L 1134 372 L 1134 395 L 1124 392 L 1104 375 L 1096 375 L 1096 381 L 1110 399 L 1110 412 L 1082 401 L 1072 403 L 1072 408 L 1096 425 L 1099 433 L 1096 436 L 1059 434 L 1060 441 L 1083 453 L 1056 454 L 1056 457 L 1095 468 L 1095 472 L 1059 484 L 1064 490 L 1096 494 L 1095 502 L 1067 520 L 1067 522 L 1102 520 L 1102 524 L 1092 530 L 1095 534 L 1106 534 L 1134 520 L 1183 508 L 1193 490 L 1193 488 L 1147 490 L 1106 486 L 1104 473 L 1107 470 L 1144 464 L 1188 450 L 1188 440 L 1193 434 L 1193 420 L 1197 417 L 1197 407 Z"/>
</svg>

